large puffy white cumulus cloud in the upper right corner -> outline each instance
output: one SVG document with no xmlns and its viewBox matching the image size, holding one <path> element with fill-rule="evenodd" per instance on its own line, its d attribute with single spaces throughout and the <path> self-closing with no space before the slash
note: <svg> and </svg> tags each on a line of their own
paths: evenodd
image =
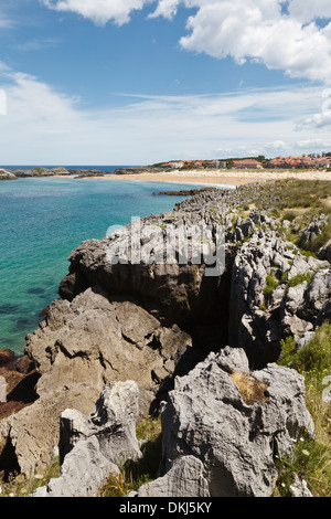
<svg viewBox="0 0 331 519">
<path fill-rule="evenodd" d="M 293 78 L 331 81 L 331 24 L 318 27 L 310 20 L 312 12 L 305 25 L 296 15 L 284 13 L 285 2 L 277 0 L 194 3 L 200 9 L 188 21 L 190 34 L 181 39 L 184 49 L 220 59 L 232 56 L 239 64 L 254 60 Z M 305 3 L 311 4 L 300 1 Z"/>
</svg>

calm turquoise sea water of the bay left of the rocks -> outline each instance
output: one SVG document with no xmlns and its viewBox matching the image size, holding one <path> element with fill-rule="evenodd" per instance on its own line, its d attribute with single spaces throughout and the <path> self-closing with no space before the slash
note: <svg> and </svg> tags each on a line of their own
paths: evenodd
<svg viewBox="0 0 331 519">
<path fill-rule="evenodd" d="M 154 193 L 192 187 L 73 178 L 0 182 L 0 348 L 23 352 L 25 335 L 58 297 L 67 258 L 84 240 L 102 240 L 131 216 L 170 211 L 183 197 Z"/>
</svg>

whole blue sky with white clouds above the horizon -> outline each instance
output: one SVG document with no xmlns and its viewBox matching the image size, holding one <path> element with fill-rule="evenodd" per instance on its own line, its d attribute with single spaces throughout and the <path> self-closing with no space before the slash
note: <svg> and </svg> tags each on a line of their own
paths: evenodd
<svg viewBox="0 0 331 519">
<path fill-rule="evenodd" d="M 2 165 L 331 151 L 329 0 L 11 0 L 0 45 Z"/>
</svg>

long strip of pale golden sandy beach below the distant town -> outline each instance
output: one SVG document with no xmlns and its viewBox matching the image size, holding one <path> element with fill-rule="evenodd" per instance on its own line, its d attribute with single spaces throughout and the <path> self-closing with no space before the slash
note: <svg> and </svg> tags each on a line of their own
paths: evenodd
<svg viewBox="0 0 331 519">
<path fill-rule="evenodd" d="M 167 171 L 138 174 L 106 174 L 96 177 L 109 180 L 142 180 L 156 182 L 175 183 L 205 183 L 205 184 L 233 184 L 241 186 L 253 182 L 265 182 L 268 180 L 327 180 L 331 181 L 331 171 L 234 171 L 234 170 L 192 170 L 192 171 Z"/>
</svg>

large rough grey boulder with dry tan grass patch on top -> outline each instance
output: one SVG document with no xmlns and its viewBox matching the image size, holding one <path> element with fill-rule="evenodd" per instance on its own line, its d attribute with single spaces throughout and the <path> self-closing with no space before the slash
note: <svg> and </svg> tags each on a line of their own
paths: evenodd
<svg viewBox="0 0 331 519">
<path fill-rule="evenodd" d="M 303 432 L 313 435 L 305 381 L 277 364 L 247 373 L 247 360 L 239 372 L 237 356 L 229 373 L 228 352 L 226 371 L 221 351 L 177 378 L 161 414 L 160 477 L 178 459 L 194 456 L 203 464 L 200 474 L 211 497 L 270 497 L 277 479 L 274 456 L 290 454 Z"/>
</svg>

